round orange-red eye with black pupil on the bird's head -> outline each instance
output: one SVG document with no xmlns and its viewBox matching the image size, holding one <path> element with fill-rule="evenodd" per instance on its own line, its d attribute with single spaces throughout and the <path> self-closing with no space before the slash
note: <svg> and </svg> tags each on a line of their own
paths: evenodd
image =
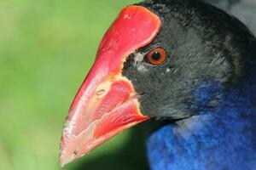
<svg viewBox="0 0 256 170">
<path fill-rule="evenodd" d="M 167 57 L 166 50 L 163 48 L 154 48 L 146 55 L 148 62 L 152 65 L 162 64 Z"/>
</svg>

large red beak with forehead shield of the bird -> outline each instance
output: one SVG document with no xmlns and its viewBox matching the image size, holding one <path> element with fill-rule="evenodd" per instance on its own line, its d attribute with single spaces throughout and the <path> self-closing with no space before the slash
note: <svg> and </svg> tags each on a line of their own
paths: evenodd
<svg viewBox="0 0 256 170">
<path fill-rule="evenodd" d="M 137 94 L 121 71 L 129 54 L 151 42 L 159 30 L 159 17 L 147 8 L 130 6 L 119 14 L 71 105 L 61 138 L 61 166 L 148 120 L 139 111 Z"/>
</svg>

